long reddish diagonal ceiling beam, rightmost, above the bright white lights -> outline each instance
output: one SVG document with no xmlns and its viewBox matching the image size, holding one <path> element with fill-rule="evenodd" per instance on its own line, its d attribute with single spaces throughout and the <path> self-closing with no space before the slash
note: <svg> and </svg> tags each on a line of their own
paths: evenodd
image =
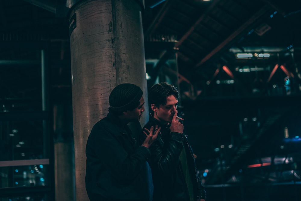
<svg viewBox="0 0 301 201">
<path fill-rule="evenodd" d="M 209 60 L 213 55 L 218 53 L 220 50 L 225 48 L 230 42 L 232 42 L 237 36 L 243 33 L 248 27 L 250 27 L 256 20 L 262 17 L 268 11 L 268 7 L 264 6 L 256 14 L 254 14 L 248 21 L 246 21 L 242 26 L 240 26 L 236 31 L 234 31 L 227 39 L 225 39 L 219 46 L 213 49 L 208 55 L 206 55 L 200 62 L 198 62 L 194 68 L 200 67 L 203 63 Z"/>
</svg>

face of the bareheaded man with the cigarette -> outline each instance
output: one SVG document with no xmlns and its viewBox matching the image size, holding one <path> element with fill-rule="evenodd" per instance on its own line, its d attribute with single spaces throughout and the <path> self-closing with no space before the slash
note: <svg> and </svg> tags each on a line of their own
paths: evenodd
<svg viewBox="0 0 301 201">
<path fill-rule="evenodd" d="M 151 109 L 154 111 L 154 118 L 161 121 L 162 123 L 170 123 L 172 117 L 177 110 L 178 99 L 174 95 L 170 95 L 166 98 L 165 105 L 154 105 L 151 104 Z"/>
</svg>

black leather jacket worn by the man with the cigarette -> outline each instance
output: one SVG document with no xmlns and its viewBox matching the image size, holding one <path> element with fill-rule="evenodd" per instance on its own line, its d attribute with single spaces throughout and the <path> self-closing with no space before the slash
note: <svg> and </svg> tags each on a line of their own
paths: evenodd
<svg viewBox="0 0 301 201">
<path fill-rule="evenodd" d="M 194 200 L 206 199 L 206 192 L 199 177 L 197 176 L 195 161 L 190 144 L 185 133 L 170 132 L 169 126 L 161 124 L 152 115 L 144 126 L 150 129 L 151 126 L 161 126 L 160 134 L 151 145 L 151 166 L 154 182 L 154 201 L 188 201 L 188 189 L 182 174 L 180 165 L 180 153 L 185 148 L 188 169 L 194 189 Z M 141 133 L 141 140 L 145 134 Z"/>
</svg>

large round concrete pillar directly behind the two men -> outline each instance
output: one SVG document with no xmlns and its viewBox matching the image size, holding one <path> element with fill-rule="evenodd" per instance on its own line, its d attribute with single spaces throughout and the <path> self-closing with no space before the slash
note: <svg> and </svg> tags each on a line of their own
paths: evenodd
<svg viewBox="0 0 301 201">
<path fill-rule="evenodd" d="M 135 0 L 86 0 L 69 8 L 76 200 L 86 201 L 85 145 L 107 115 L 111 90 L 120 83 L 140 86 L 146 102 L 140 124 L 148 120 L 144 7 Z"/>
</svg>

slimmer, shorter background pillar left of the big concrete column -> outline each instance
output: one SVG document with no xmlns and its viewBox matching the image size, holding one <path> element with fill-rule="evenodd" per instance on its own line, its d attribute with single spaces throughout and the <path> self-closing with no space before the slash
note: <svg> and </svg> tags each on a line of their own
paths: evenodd
<svg viewBox="0 0 301 201">
<path fill-rule="evenodd" d="M 55 201 L 75 201 L 72 106 L 54 104 Z"/>
</svg>

